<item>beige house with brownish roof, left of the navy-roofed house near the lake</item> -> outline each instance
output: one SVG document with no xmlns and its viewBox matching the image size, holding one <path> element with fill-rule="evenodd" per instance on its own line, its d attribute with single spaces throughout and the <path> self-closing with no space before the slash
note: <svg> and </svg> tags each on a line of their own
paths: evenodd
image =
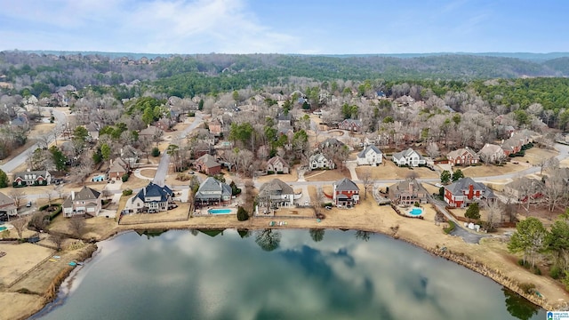
<svg viewBox="0 0 569 320">
<path fill-rule="evenodd" d="M 71 191 L 71 195 L 61 204 L 63 216 L 70 218 L 77 215 L 96 217 L 100 213 L 102 198 L 99 191 L 83 187 L 79 192 Z"/>
</svg>

